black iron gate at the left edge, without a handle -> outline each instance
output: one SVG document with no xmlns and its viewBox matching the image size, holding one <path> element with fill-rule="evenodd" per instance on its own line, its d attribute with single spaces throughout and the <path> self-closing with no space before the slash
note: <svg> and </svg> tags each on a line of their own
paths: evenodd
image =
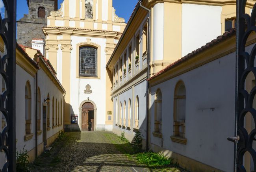
<svg viewBox="0 0 256 172">
<path fill-rule="evenodd" d="M 0 172 L 15 171 L 15 65 L 16 65 L 16 0 L 0 0 L 0 39 L 4 43 L 4 53 L 0 55 L 0 74 L 5 91 L 0 94 L 0 119 L 5 127 L 0 131 L 0 152 L 5 161 Z M 2 160 L 2 159 L 1 159 Z"/>
</svg>

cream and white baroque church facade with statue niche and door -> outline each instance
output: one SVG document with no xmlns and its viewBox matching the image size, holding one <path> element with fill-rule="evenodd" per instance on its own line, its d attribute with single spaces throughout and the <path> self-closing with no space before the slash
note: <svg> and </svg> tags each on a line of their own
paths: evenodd
<svg viewBox="0 0 256 172">
<path fill-rule="evenodd" d="M 125 26 L 112 0 L 64 0 L 47 17 L 46 58 L 66 91 L 65 131 L 112 130 L 106 63 Z"/>
</svg>

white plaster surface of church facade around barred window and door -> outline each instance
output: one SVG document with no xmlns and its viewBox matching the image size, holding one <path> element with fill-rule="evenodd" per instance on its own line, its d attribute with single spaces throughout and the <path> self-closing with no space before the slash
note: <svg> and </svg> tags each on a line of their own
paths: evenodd
<svg viewBox="0 0 256 172">
<path fill-rule="evenodd" d="M 90 38 L 91 43 L 100 45 L 100 79 L 79 79 L 76 78 L 76 44 L 86 42 L 87 37 L 71 36 L 71 44 L 73 49 L 71 50 L 71 60 L 70 60 L 70 114 L 79 115 L 80 104 L 87 100 L 95 102 L 97 107 L 97 117 L 96 117 L 96 129 L 104 129 L 105 118 L 106 118 L 106 53 L 104 52 L 106 48 L 106 39 L 103 38 Z M 85 86 L 91 85 L 92 94 L 85 94 Z M 109 100 L 111 101 L 111 100 Z M 78 121 L 81 117 L 78 117 Z M 81 128 L 82 126 L 80 126 Z"/>
</svg>

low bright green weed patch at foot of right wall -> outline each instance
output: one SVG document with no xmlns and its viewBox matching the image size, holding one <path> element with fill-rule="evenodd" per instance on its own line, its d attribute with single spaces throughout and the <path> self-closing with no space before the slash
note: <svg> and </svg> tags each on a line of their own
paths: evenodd
<svg viewBox="0 0 256 172">
<path fill-rule="evenodd" d="M 141 164 L 146 164 L 149 167 L 167 166 L 173 164 L 173 159 L 166 158 L 163 154 L 154 152 L 143 152 L 135 155 L 135 159 Z"/>
</svg>

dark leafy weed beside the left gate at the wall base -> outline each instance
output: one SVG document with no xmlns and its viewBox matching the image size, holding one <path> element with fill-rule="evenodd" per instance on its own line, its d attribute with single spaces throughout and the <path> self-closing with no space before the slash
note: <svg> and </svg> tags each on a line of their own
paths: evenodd
<svg viewBox="0 0 256 172">
<path fill-rule="evenodd" d="M 24 150 L 26 145 L 24 145 L 23 150 L 18 152 L 18 149 L 16 149 L 16 171 L 17 172 L 30 172 L 30 169 L 28 167 L 28 151 Z"/>
</svg>

